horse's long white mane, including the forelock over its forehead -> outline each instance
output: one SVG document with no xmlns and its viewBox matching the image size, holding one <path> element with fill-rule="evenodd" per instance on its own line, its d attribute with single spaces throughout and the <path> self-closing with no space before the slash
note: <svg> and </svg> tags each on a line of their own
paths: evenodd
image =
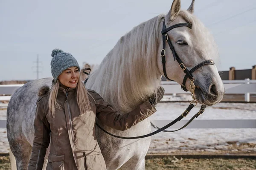
<svg viewBox="0 0 256 170">
<path fill-rule="evenodd" d="M 165 16 L 160 14 L 122 36 L 88 79 L 86 87 L 99 93 L 120 113 L 134 109 L 160 84 L 162 68 L 157 65 L 157 57 L 160 57 L 157 52 L 161 40 L 158 36 L 162 28 L 159 24 Z M 193 24 L 198 48 L 201 43 L 212 48 L 213 37 L 201 21 L 187 11 L 180 11 L 179 16 Z"/>
</svg>

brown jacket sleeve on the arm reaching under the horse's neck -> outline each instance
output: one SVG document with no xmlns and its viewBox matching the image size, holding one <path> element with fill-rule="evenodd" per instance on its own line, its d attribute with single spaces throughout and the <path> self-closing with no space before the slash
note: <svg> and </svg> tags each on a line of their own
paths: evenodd
<svg viewBox="0 0 256 170">
<path fill-rule="evenodd" d="M 96 117 L 102 124 L 116 130 L 127 130 L 157 111 L 149 101 L 146 101 L 133 111 L 121 115 L 96 92 L 94 92 L 93 97 L 96 102 Z"/>
</svg>

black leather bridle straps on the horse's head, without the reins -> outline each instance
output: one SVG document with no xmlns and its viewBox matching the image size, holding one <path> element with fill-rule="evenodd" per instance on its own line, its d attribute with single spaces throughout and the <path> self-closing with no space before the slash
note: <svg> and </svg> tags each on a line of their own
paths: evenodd
<svg viewBox="0 0 256 170">
<path fill-rule="evenodd" d="M 179 24 L 175 24 L 173 26 L 170 26 L 168 28 L 166 28 L 166 25 L 165 25 L 165 21 L 163 21 L 163 30 L 162 30 L 162 37 L 163 37 L 163 49 L 161 51 L 161 57 L 162 57 L 162 64 L 163 64 L 163 74 L 164 76 L 166 77 L 166 79 L 168 80 L 171 80 L 171 81 L 174 81 L 172 79 L 169 79 L 168 76 L 167 76 L 167 73 L 166 73 L 166 59 L 165 59 L 165 56 L 166 56 L 166 41 L 172 51 L 172 55 L 173 55 L 173 58 L 174 60 L 177 60 L 177 62 L 179 63 L 180 65 L 180 68 L 183 70 L 183 72 L 186 74 L 184 79 L 183 79 L 183 82 L 182 82 L 182 85 L 181 85 L 181 88 L 184 90 L 184 91 L 188 91 L 186 89 L 186 79 L 189 78 L 191 83 L 190 83 L 190 86 L 189 86 L 189 91 L 191 91 L 191 95 L 192 95 L 192 98 L 195 100 L 195 88 L 196 86 L 194 85 L 194 80 L 195 78 L 192 76 L 192 73 L 194 71 L 196 71 L 198 68 L 202 67 L 203 65 L 206 65 L 206 64 L 211 64 L 211 65 L 214 65 L 214 62 L 212 59 L 208 59 L 208 60 L 205 60 L 203 62 L 201 62 L 200 64 L 196 65 L 195 67 L 193 67 L 191 70 L 188 70 L 186 68 L 186 66 L 184 65 L 184 63 L 182 62 L 182 60 L 180 59 L 180 57 L 178 56 L 178 54 L 176 53 L 175 49 L 174 49 L 174 46 L 172 45 L 172 42 L 168 36 L 168 31 L 171 31 L 173 28 L 177 28 L 177 27 L 183 27 L 183 26 L 186 26 L 186 27 L 189 27 L 190 29 L 192 29 L 192 24 L 191 23 L 179 23 Z"/>
</svg>

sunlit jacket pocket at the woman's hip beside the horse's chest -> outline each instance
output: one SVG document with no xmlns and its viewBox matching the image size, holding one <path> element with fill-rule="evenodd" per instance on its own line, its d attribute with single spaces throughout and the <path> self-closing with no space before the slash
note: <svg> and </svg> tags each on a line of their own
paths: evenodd
<svg viewBox="0 0 256 170">
<path fill-rule="evenodd" d="M 97 149 L 96 149 L 97 150 Z M 85 160 L 84 160 L 84 167 L 86 170 L 107 170 L 105 160 L 99 151 L 93 151 L 93 152 L 86 152 L 85 154 Z"/>
</svg>

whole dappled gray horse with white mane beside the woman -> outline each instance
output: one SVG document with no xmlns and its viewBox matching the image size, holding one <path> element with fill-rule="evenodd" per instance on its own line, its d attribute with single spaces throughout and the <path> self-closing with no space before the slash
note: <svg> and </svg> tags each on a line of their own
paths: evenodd
<svg viewBox="0 0 256 170">
<path fill-rule="evenodd" d="M 207 28 L 193 15 L 194 0 L 187 10 L 180 10 L 180 0 L 174 0 L 170 11 L 160 14 L 122 36 L 114 48 L 90 75 L 86 87 L 98 92 L 119 113 L 127 113 L 152 94 L 160 85 L 163 75 L 160 53 L 162 50 L 162 26 L 192 23 L 192 28 L 178 27 L 168 32 L 175 51 L 188 69 L 207 59 L 218 59 L 218 50 Z M 174 60 L 172 51 L 166 48 L 166 73 L 170 79 L 182 84 L 185 73 Z M 215 65 L 204 65 L 193 73 L 196 100 L 205 105 L 221 101 L 224 86 Z M 7 136 L 18 170 L 26 170 L 34 138 L 34 118 L 38 90 L 51 85 L 52 78 L 26 83 L 13 95 L 7 108 Z M 187 79 L 186 88 L 189 89 Z M 157 114 L 157 113 L 156 113 Z M 145 119 L 125 131 L 104 126 L 119 136 L 140 136 L 151 131 L 150 121 Z M 145 155 L 150 137 L 144 139 L 118 139 L 97 129 L 97 138 L 108 170 L 144 170 Z M 49 149 L 47 154 L 49 154 Z M 47 155 L 48 156 L 48 155 Z M 46 156 L 46 158 L 47 158 Z M 15 163 L 14 157 L 11 161 Z M 46 165 L 45 159 L 44 165 Z"/>
</svg>

